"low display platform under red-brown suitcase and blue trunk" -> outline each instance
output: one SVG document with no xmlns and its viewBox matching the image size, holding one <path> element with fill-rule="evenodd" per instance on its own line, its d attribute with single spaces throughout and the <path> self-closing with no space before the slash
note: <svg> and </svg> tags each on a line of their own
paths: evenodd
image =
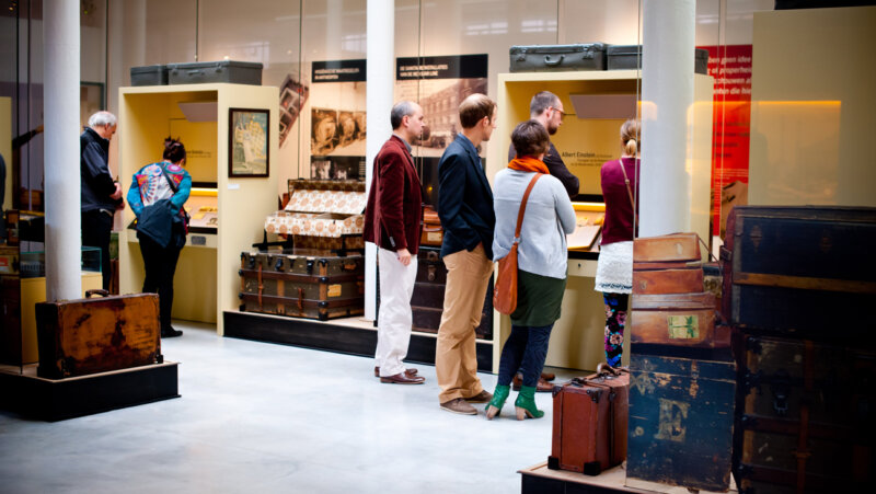
<svg viewBox="0 0 876 494">
<path fill-rule="evenodd" d="M 608 494 L 608 493 L 638 493 L 638 494 L 689 494 L 687 487 L 657 484 L 654 482 L 627 480 L 623 467 L 614 467 L 596 476 L 585 475 L 565 470 L 551 470 L 548 462 L 542 462 L 522 470 L 520 492 L 522 494 Z M 696 492 L 696 491 L 694 491 Z M 730 485 L 729 493 L 737 492 Z M 699 491 L 699 494 L 711 494 Z"/>
</svg>

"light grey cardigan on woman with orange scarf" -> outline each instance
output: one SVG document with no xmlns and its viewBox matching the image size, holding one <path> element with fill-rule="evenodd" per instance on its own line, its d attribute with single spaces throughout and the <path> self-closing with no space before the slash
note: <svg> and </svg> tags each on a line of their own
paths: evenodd
<svg viewBox="0 0 876 494">
<path fill-rule="evenodd" d="M 517 212 L 533 172 L 505 169 L 496 174 L 493 208 L 496 230 L 493 234 L 493 260 L 506 255 L 514 243 Z M 564 279 L 568 250 L 566 235 L 575 231 L 575 209 L 563 183 L 554 176 L 539 179 L 529 194 L 517 266 L 527 273 Z"/>
</svg>

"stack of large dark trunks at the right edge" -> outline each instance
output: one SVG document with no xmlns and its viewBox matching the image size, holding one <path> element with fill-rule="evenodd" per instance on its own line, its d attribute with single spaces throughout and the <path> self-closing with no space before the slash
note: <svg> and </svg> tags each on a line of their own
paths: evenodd
<svg viewBox="0 0 876 494">
<path fill-rule="evenodd" d="M 876 209 L 737 207 L 722 249 L 739 492 L 876 481 Z"/>
</svg>

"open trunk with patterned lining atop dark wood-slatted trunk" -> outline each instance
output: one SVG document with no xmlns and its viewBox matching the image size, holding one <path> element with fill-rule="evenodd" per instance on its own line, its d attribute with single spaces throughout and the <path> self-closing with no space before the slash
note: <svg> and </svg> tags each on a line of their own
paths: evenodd
<svg viewBox="0 0 876 494">
<path fill-rule="evenodd" d="M 291 248 L 241 253 L 240 310 L 323 321 L 364 313 L 365 184 L 297 180 L 289 193 L 265 231 L 290 237 Z"/>
</svg>

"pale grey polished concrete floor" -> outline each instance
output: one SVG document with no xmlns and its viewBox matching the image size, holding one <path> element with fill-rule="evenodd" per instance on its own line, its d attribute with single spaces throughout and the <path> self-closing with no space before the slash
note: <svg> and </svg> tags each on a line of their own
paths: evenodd
<svg viewBox="0 0 876 494">
<path fill-rule="evenodd" d="M 162 349 L 182 398 L 58 423 L 0 412 L 0 493 L 512 493 L 551 451 L 550 393 L 543 418 L 515 420 L 512 392 L 487 422 L 441 411 L 431 366 L 412 364 L 424 386 L 381 384 L 370 358 L 177 328 Z"/>
</svg>

